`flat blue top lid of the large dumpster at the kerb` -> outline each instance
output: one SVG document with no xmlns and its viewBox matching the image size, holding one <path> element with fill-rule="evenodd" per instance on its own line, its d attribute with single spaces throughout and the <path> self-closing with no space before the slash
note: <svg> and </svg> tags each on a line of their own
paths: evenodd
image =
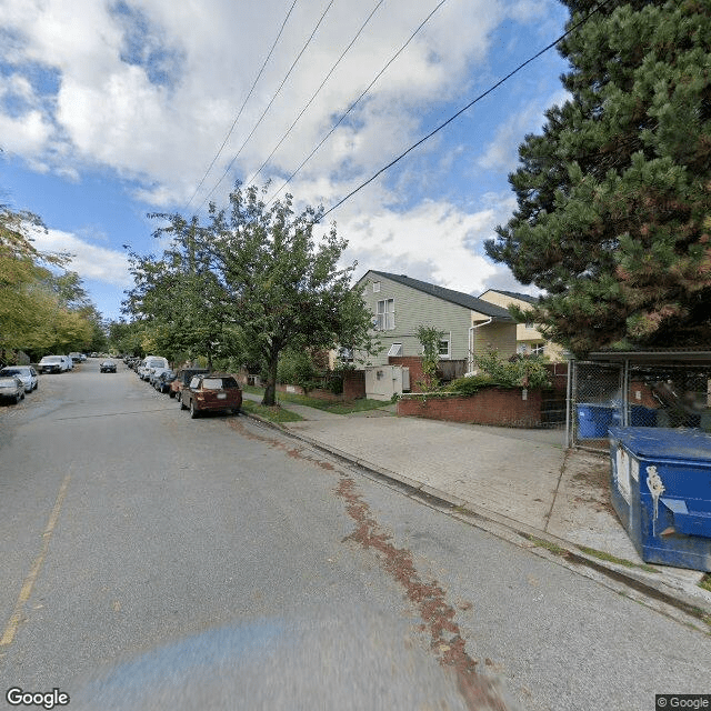
<svg viewBox="0 0 711 711">
<path fill-rule="evenodd" d="M 638 457 L 711 462 L 711 434 L 701 430 L 611 427 L 610 435 Z"/>
</svg>

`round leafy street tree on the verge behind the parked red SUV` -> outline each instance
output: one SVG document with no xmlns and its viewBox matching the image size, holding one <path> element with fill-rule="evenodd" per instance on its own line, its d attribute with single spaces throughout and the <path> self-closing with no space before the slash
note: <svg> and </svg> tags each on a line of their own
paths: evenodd
<svg viewBox="0 0 711 711">
<path fill-rule="evenodd" d="M 262 191 L 263 196 L 263 191 Z M 323 209 L 296 214 L 291 196 L 268 207 L 256 188 L 239 184 L 229 208 L 210 207 L 206 224 L 178 214 L 156 216 L 173 239 L 160 260 L 134 259 L 137 287 L 128 308 L 158 320 L 180 303 L 187 329 L 203 354 L 214 344 L 242 362 L 259 362 L 267 375 L 263 404 L 274 404 L 279 357 L 286 349 L 370 347 L 370 314 L 351 290 L 354 264 L 340 268 L 346 240 L 336 228 L 317 239 Z M 171 296 L 172 294 L 172 296 Z M 201 327 L 204 330 L 201 331 Z"/>
</svg>

